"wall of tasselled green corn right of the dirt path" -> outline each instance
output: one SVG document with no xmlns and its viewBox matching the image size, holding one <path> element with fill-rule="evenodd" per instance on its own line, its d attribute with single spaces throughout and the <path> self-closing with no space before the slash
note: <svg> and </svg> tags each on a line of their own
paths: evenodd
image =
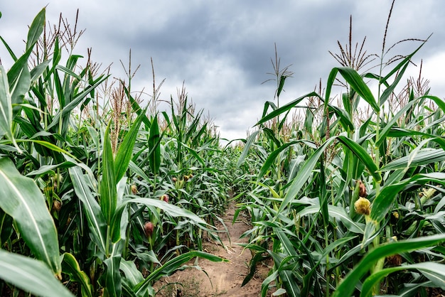
<svg viewBox="0 0 445 297">
<path fill-rule="evenodd" d="M 377 73 L 359 73 L 369 57 L 363 45 L 359 56 L 341 48 L 335 57 L 345 63 L 331 70 L 324 92 L 283 106 L 292 73 L 273 62 L 275 100 L 264 105 L 237 164 L 252 168 L 239 204 L 253 225 L 243 234 L 252 252 L 244 284 L 263 263 L 270 270 L 262 296 L 445 290 L 445 102 L 420 78 L 401 87 L 421 42 L 385 63 L 384 41 Z M 336 82 L 345 87 L 338 104 Z M 358 112 L 363 107 L 368 114 Z M 303 114 L 299 121 L 287 119 L 293 110 Z"/>
</svg>

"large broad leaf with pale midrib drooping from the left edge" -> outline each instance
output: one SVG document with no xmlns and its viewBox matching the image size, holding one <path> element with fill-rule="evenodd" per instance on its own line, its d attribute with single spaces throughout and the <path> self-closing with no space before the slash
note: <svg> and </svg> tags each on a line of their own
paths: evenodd
<svg viewBox="0 0 445 297">
<path fill-rule="evenodd" d="M 0 158 L 0 207 L 14 218 L 35 257 L 60 276 L 57 231 L 45 198 L 34 180 L 21 175 L 9 158 Z"/>
</svg>

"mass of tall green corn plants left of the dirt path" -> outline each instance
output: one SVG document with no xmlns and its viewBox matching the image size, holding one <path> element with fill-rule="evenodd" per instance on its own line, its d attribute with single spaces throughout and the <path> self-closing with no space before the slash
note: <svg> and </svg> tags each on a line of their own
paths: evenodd
<svg viewBox="0 0 445 297">
<path fill-rule="evenodd" d="M 223 261 L 201 252 L 235 168 L 212 122 L 185 92 L 148 112 L 132 75 L 111 89 L 68 21 L 48 27 L 43 9 L 20 56 L 1 38 L 1 295 L 154 296 L 189 260 Z"/>
</svg>

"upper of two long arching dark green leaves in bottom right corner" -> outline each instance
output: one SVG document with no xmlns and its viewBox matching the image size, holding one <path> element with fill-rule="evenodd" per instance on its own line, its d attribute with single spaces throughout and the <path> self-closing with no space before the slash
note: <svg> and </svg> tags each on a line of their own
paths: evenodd
<svg viewBox="0 0 445 297">
<path fill-rule="evenodd" d="M 383 244 L 380 247 L 372 249 L 366 256 L 360 261 L 357 266 L 351 270 L 345 279 L 337 287 L 333 293 L 333 297 L 348 297 L 352 296 L 355 285 L 358 284 L 360 279 L 375 265 L 375 263 L 384 257 L 388 257 L 393 254 L 401 254 L 404 252 L 411 252 L 417 249 L 423 249 L 424 247 L 432 247 L 445 242 L 445 234 L 437 234 L 429 237 L 417 237 L 414 239 L 401 240 L 400 242 L 390 242 Z"/>
</svg>

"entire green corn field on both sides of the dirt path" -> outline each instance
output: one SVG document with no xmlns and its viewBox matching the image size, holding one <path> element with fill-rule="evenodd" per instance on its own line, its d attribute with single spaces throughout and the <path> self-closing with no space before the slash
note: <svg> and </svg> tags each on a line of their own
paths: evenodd
<svg viewBox="0 0 445 297">
<path fill-rule="evenodd" d="M 445 101 L 405 75 L 427 40 L 395 58 L 338 43 L 325 87 L 281 105 L 276 57 L 256 129 L 223 146 L 185 89 L 147 105 L 63 27 L 43 9 L 22 55 L 1 38 L 2 296 L 155 296 L 196 257 L 227 261 L 203 238 L 230 202 L 252 226 L 243 284 L 269 265 L 261 296 L 444 293 Z"/>
</svg>

